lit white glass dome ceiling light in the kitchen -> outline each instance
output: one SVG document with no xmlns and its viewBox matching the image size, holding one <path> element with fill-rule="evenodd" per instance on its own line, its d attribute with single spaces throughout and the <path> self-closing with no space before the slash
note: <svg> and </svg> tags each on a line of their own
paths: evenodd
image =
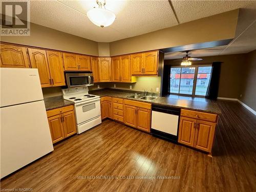
<svg viewBox="0 0 256 192">
<path fill-rule="evenodd" d="M 112 11 L 105 9 L 105 0 L 97 0 L 96 3 L 99 7 L 94 7 L 87 12 L 87 16 L 91 22 L 101 28 L 108 27 L 113 24 L 116 19 L 116 15 Z"/>
</svg>

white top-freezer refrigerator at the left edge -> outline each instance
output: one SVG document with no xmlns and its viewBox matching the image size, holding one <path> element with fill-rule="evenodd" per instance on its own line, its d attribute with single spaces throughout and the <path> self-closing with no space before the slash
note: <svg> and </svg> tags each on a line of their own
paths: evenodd
<svg viewBox="0 0 256 192">
<path fill-rule="evenodd" d="M 1 178 L 53 151 L 37 69 L 0 68 Z"/>
</svg>

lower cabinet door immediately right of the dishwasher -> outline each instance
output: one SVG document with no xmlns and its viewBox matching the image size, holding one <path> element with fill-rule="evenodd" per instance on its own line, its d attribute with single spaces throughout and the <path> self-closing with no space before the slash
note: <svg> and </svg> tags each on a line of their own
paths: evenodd
<svg viewBox="0 0 256 192">
<path fill-rule="evenodd" d="M 179 143 L 193 146 L 194 145 L 194 138 L 195 138 L 195 128 L 196 126 L 196 120 L 187 118 L 187 117 L 181 117 L 180 118 L 180 127 L 179 127 Z"/>
</svg>

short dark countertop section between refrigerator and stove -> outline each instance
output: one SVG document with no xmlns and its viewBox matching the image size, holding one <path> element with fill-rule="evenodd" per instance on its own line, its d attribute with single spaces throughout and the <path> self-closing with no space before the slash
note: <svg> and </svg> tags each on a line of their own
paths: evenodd
<svg viewBox="0 0 256 192">
<path fill-rule="evenodd" d="M 62 96 L 45 98 L 46 111 L 61 108 L 61 106 L 67 106 L 74 104 L 71 101 L 63 99 Z"/>
</svg>

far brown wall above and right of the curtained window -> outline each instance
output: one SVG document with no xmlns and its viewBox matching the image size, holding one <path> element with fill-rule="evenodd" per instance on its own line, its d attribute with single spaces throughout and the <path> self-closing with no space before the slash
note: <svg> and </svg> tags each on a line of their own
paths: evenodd
<svg viewBox="0 0 256 192">
<path fill-rule="evenodd" d="M 215 61 L 222 62 L 218 97 L 238 98 L 242 76 L 241 72 L 243 71 L 242 66 L 245 65 L 245 54 L 201 58 L 203 58 L 202 61 L 193 61 L 193 64 L 202 63 L 203 65 L 204 63 L 209 64 Z M 165 60 L 164 63 L 165 65 L 180 65 L 180 61 Z"/>
</svg>

